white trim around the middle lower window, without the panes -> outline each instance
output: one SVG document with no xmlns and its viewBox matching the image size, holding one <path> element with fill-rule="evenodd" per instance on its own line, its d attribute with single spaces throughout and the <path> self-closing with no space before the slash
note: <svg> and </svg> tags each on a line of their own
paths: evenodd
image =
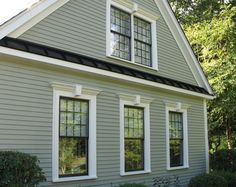
<svg viewBox="0 0 236 187">
<path fill-rule="evenodd" d="M 151 150 L 150 150 L 150 102 L 152 99 L 137 95 L 118 94 L 120 98 L 120 175 L 136 175 L 151 173 Z M 140 98 L 137 104 L 136 98 Z M 125 172 L 124 153 L 124 106 L 138 106 L 144 108 L 144 170 Z"/>
</svg>

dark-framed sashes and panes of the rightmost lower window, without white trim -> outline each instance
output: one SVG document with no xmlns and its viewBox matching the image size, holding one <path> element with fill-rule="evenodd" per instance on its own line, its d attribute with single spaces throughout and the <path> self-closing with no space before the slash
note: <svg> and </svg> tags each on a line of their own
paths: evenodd
<svg viewBox="0 0 236 187">
<path fill-rule="evenodd" d="M 183 113 L 169 111 L 169 157 L 170 167 L 184 165 Z"/>
</svg>

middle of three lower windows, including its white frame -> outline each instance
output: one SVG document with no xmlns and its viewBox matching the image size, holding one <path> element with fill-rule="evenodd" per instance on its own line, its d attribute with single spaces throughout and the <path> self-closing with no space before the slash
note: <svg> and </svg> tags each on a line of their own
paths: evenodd
<svg viewBox="0 0 236 187">
<path fill-rule="evenodd" d="M 150 99 L 120 94 L 121 175 L 151 172 Z M 138 102 L 137 102 L 138 101 Z"/>
</svg>

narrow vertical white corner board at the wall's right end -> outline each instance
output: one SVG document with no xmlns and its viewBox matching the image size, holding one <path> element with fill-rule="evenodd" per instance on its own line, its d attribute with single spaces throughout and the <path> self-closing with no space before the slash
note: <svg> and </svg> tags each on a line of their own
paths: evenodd
<svg viewBox="0 0 236 187">
<path fill-rule="evenodd" d="M 204 111 L 204 131 L 205 131 L 205 159 L 206 159 L 206 172 L 209 173 L 209 142 L 208 142 L 208 127 L 207 127 L 207 102 L 203 100 L 203 111 Z"/>
</svg>

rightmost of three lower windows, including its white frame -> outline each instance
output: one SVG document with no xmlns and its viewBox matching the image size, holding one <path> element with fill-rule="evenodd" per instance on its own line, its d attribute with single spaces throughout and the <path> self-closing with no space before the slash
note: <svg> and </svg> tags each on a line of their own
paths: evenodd
<svg viewBox="0 0 236 187">
<path fill-rule="evenodd" d="M 167 169 L 188 168 L 187 109 L 167 107 Z"/>
</svg>

